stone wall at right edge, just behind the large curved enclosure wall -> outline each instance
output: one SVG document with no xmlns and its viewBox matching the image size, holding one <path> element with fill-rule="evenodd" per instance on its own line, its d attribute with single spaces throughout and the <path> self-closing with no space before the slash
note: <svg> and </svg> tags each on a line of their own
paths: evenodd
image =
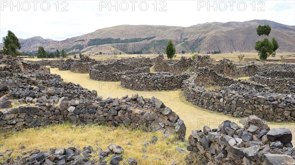
<svg viewBox="0 0 295 165">
<path fill-rule="evenodd" d="M 295 78 L 271 78 L 255 75 L 249 80 L 267 85 L 274 93 L 295 94 Z"/>
</svg>

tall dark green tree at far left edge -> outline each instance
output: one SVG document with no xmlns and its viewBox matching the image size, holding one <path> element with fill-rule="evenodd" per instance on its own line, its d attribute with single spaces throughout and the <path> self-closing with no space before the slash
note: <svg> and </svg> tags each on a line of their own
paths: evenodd
<svg viewBox="0 0 295 165">
<path fill-rule="evenodd" d="M 17 49 L 20 49 L 22 46 L 13 32 L 8 30 L 7 36 L 3 37 L 2 39 L 4 45 L 3 51 L 6 54 L 10 54 L 13 57 L 21 55 L 21 53 L 17 52 Z"/>
</svg>

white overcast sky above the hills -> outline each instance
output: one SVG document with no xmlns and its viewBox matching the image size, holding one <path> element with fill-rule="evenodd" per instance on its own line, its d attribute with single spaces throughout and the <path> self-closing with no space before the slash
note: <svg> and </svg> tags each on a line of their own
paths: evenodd
<svg viewBox="0 0 295 165">
<path fill-rule="evenodd" d="M 295 0 L 0 0 L 0 38 L 64 40 L 121 24 L 191 26 L 270 20 L 295 25 Z M 2 41 L 1 41 L 2 42 Z"/>
</svg>

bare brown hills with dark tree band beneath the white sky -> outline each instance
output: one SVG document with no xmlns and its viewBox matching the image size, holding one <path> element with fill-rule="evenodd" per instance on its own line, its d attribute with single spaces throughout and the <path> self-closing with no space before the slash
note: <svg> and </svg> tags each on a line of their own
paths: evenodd
<svg viewBox="0 0 295 165">
<path fill-rule="evenodd" d="M 255 42 L 264 38 L 256 33 L 260 24 L 268 24 L 272 28 L 266 37 L 269 40 L 276 38 L 280 46 L 277 52 L 295 52 L 295 26 L 267 20 L 213 22 L 189 27 L 118 25 L 63 41 L 40 36 L 19 41 L 22 44 L 21 51 L 36 51 L 39 46 L 43 46 L 47 51 L 65 49 L 76 53 L 156 53 L 165 51 L 168 41 L 172 39 L 177 52 L 255 52 Z"/>
</svg>

